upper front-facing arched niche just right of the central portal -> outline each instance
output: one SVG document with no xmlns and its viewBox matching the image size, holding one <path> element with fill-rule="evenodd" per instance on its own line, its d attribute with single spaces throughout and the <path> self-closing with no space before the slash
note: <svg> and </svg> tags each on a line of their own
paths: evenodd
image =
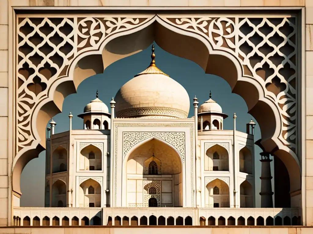
<svg viewBox="0 0 313 234">
<path fill-rule="evenodd" d="M 228 171 L 228 151 L 218 144 L 207 149 L 204 157 L 204 170 L 206 171 Z"/>
</svg>

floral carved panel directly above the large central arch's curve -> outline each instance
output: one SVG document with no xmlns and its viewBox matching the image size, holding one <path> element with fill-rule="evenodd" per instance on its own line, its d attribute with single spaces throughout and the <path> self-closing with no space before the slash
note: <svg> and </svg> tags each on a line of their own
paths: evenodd
<svg viewBox="0 0 313 234">
<path fill-rule="evenodd" d="M 139 142 L 155 137 L 171 144 L 185 162 L 185 133 L 184 132 L 124 132 L 123 133 L 123 160 L 127 152 Z"/>
</svg>

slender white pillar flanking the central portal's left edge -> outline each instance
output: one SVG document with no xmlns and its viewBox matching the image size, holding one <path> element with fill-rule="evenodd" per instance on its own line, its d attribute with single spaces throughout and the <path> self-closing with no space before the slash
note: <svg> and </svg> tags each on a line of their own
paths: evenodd
<svg viewBox="0 0 313 234">
<path fill-rule="evenodd" d="M 110 207 L 113 207 L 113 172 L 114 172 L 114 108 L 115 108 L 115 101 L 112 97 L 112 100 L 110 101 L 111 105 L 111 126 L 110 126 L 110 191 L 106 194 L 110 197 Z M 112 217 L 112 223 L 113 223 L 113 217 Z M 114 224 L 113 224 L 114 225 Z"/>
</svg>

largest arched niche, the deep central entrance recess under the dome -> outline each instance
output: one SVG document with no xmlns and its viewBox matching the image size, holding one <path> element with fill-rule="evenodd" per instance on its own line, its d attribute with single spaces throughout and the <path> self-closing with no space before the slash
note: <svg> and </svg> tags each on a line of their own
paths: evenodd
<svg viewBox="0 0 313 234">
<path fill-rule="evenodd" d="M 158 206 L 161 203 L 173 207 L 182 206 L 182 162 L 177 151 L 168 144 L 152 138 L 133 149 L 125 158 L 124 163 L 127 176 L 127 195 L 125 194 L 127 206 L 148 206 L 150 198 L 156 198 Z M 154 165 L 157 167 L 157 174 L 149 174 L 152 163 L 155 163 Z M 150 183 L 150 180 L 155 182 Z M 160 192 L 149 194 L 147 186 L 149 185 L 150 188 L 150 185 L 154 183 L 158 183 L 154 187 Z M 142 188 L 142 184 L 144 184 L 144 188 Z M 173 184 L 174 186 L 172 186 Z M 159 200 L 161 197 L 162 201 Z"/>
</svg>

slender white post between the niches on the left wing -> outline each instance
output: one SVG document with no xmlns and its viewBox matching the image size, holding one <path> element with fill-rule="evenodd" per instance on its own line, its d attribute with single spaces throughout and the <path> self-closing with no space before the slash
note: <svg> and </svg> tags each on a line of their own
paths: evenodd
<svg viewBox="0 0 313 234">
<path fill-rule="evenodd" d="M 68 192 L 68 197 L 67 197 L 67 207 L 73 207 L 73 151 L 72 151 L 72 112 L 69 112 L 69 149 L 68 149 L 68 154 L 67 154 L 67 175 L 68 175 L 68 185 L 67 185 L 67 192 Z"/>
</svg>

